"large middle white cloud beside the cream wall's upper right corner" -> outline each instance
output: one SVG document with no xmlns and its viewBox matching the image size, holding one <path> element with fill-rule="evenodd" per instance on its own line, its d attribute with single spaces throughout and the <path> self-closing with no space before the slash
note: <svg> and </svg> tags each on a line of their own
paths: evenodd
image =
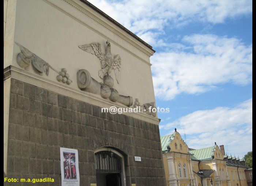
<svg viewBox="0 0 256 186">
<path fill-rule="evenodd" d="M 184 36 L 182 41 L 189 46 L 171 44 L 177 48 L 151 57 L 157 97 L 171 100 L 177 94 L 203 93 L 218 84 L 252 82 L 252 45 L 208 34 Z"/>
</svg>

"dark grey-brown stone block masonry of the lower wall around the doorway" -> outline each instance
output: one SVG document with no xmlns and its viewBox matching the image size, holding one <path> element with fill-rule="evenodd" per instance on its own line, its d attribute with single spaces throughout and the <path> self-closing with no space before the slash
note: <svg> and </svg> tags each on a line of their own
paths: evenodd
<svg viewBox="0 0 256 186">
<path fill-rule="evenodd" d="M 61 185 L 60 147 L 67 147 L 78 149 L 80 185 L 89 186 L 96 183 L 94 151 L 112 147 L 125 158 L 127 186 L 166 186 L 158 125 L 12 79 L 8 126 L 7 177 Z"/>
</svg>

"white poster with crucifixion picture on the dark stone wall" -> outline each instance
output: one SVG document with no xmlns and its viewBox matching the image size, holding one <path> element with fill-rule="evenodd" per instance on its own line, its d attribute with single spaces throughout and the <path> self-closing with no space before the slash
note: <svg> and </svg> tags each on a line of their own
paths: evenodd
<svg viewBox="0 0 256 186">
<path fill-rule="evenodd" d="M 62 186 L 79 186 L 78 150 L 60 148 Z"/>
</svg>

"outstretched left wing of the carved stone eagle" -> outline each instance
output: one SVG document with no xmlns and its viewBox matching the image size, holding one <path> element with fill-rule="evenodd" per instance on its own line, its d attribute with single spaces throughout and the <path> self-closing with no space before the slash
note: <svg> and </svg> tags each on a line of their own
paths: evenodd
<svg viewBox="0 0 256 186">
<path fill-rule="evenodd" d="M 102 53 L 101 51 L 101 44 L 100 43 L 91 43 L 91 44 L 84 44 L 84 45 L 79 45 L 78 46 L 80 49 L 91 53 L 95 54 L 99 61 L 101 62 L 101 68 L 104 68 L 106 66 L 105 62 L 105 54 Z"/>
</svg>

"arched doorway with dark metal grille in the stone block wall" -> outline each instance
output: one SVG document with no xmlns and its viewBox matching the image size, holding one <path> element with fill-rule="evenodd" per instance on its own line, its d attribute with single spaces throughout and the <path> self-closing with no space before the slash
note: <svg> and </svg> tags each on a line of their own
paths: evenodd
<svg viewBox="0 0 256 186">
<path fill-rule="evenodd" d="M 125 186 L 124 157 L 112 148 L 95 151 L 97 186 Z"/>
</svg>

